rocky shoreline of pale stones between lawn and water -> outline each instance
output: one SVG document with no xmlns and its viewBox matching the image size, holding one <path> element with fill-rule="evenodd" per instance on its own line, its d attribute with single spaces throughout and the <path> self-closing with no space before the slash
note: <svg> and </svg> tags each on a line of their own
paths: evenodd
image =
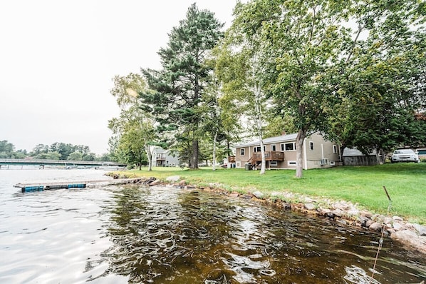
<svg viewBox="0 0 426 284">
<path fill-rule="evenodd" d="M 123 178 L 116 177 L 113 178 Z M 373 214 L 365 210 L 360 210 L 356 204 L 348 201 L 331 201 L 327 198 L 311 198 L 298 193 L 273 192 L 266 196 L 261 191 L 251 193 L 239 193 L 228 191 L 225 186 L 219 183 L 209 183 L 208 186 L 189 185 L 180 176 L 169 176 L 165 181 L 156 178 L 142 178 L 137 183 L 147 186 L 158 186 L 162 184 L 171 185 L 175 188 L 200 189 L 203 191 L 222 193 L 230 198 L 250 199 L 257 203 L 268 206 L 276 206 L 283 210 L 293 210 L 308 215 L 316 215 L 321 218 L 329 218 L 343 225 L 353 225 L 365 228 L 376 233 L 382 233 L 386 237 L 397 240 L 405 248 L 417 250 L 426 255 L 426 226 L 416 223 L 409 223 L 399 216 L 385 216 Z"/>
</svg>

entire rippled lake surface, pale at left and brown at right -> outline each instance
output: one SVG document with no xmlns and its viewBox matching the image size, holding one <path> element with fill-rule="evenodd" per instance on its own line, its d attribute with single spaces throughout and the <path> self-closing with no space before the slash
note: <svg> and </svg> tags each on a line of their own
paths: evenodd
<svg viewBox="0 0 426 284">
<path fill-rule="evenodd" d="M 21 193 L 105 171 L 0 170 L 0 283 L 420 283 L 424 255 L 380 235 L 172 187 Z"/>
</svg>

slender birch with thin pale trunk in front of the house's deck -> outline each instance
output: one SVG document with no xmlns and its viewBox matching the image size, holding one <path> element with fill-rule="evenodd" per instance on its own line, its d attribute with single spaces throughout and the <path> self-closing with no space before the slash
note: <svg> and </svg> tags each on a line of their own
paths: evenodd
<svg viewBox="0 0 426 284">
<path fill-rule="evenodd" d="M 258 32 L 259 26 L 246 21 L 253 11 L 249 5 L 237 4 L 234 9 L 235 19 L 218 51 L 216 71 L 223 83 L 224 99 L 237 99 L 239 109 L 254 121 L 261 148 L 259 173 L 263 175 L 266 170 L 263 141 L 263 111 L 266 107 L 264 87 L 270 81 L 265 71 L 271 69 L 271 61 Z"/>
</svg>

